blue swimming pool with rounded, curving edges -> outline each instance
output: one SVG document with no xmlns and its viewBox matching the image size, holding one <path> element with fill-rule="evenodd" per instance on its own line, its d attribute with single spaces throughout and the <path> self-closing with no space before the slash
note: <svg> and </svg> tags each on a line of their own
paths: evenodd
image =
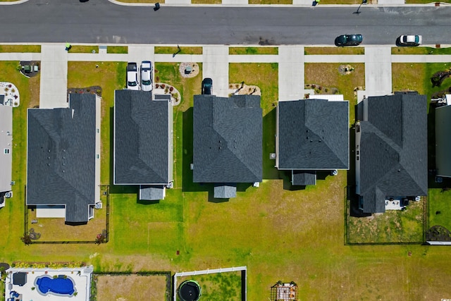
<svg viewBox="0 0 451 301">
<path fill-rule="evenodd" d="M 35 280 L 36 290 L 41 295 L 53 294 L 70 297 L 75 293 L 75 282 L 66 275 L 39 276 Z"/>
</svg>

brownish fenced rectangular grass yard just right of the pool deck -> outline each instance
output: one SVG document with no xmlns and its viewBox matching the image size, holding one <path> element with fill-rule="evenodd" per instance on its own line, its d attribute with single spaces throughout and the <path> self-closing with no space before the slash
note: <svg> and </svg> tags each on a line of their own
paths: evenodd
<svg viewBox="0 0 451 301">
<path fill-rule="evenodd" d="M 154 275 L 94 274 L 97 301 L 166 300 L 166 277 Z"/>
</svg>

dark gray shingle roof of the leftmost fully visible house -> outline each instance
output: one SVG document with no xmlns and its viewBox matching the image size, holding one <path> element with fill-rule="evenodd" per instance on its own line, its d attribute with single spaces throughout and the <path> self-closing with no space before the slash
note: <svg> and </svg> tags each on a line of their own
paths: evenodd
<svg viewBox="0 0 451 301">
<path fill-rule="evenodd" d="M 95 202 L 96 96 L 71 94 L 70 108 L 29 109 L 27 204 L 66 205 L 87 222 Z"/>
</svg>

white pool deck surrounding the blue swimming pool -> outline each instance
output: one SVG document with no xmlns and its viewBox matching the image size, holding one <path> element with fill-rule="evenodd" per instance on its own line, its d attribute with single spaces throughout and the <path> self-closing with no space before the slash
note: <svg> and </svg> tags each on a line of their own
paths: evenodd
<svg viewBox="0 0 451 301">
<path fill-rule="evenodd" d="M 11 291 L 16 291 L 18 294 L 22 295 L 21 300 L 28 301 L 89 301 L 90 289 L 91 289 L 91 277 L 92 277 L 92 266 L 86 266 L 83 268 L 61 268 L 61 269 L 32 269 L 32 268 L 11 268 L 8 269 L 6 281 L 5 281 L 5 300 L 10 298 Z M 13 274 L 17 272 L 27 273 L 27 282 L 20 286 L 13 284 Z M 75 282 L 75 291 L 77 295 L 65 296 L 54 295 L 48 293 L 47 295 L 41 295 L 38 293 L 37 289 L 32 290 L 35 287 L 35 279 L 39 276 L 53 276 L 66 275 L 73 279 Z M 16 299 L 17 300 L 17 299 Z M 20 300 L 20 299 L 18 299 Z"/>
</svg>

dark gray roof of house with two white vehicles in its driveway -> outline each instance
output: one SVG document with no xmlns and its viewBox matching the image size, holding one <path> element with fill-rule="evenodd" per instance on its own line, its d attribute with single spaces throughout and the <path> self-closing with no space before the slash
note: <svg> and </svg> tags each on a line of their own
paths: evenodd
<svg viewBox="0 0 451 301">
<path fill-rule="evenodd" d="M 143 91 L 117 90 L 114 100 L 114 183 L 172 181 L 172 106 Z"/>
</svg>

